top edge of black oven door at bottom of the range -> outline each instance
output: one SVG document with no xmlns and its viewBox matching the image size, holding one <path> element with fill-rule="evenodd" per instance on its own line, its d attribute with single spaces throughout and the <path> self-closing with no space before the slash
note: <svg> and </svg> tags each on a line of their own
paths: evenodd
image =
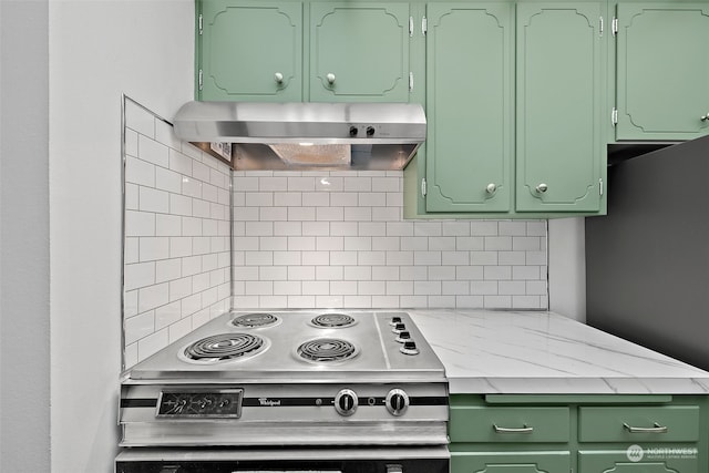
<svg viewBox="0 0 709 473">
<path fill-rule="evenodd" d="M 319 449 L 126 449 L 116 473 L 449 473 L 445 445 Z"/>
</svg>

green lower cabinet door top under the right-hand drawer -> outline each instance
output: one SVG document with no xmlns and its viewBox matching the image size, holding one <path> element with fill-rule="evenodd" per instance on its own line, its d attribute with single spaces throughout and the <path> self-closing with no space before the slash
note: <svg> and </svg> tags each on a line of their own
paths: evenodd
<svg viewBox="0 0 709 473">
<path fill-rule="evenodd" d="M 695 445 L 628 444 L 618 450 L 578 452 L 578 473 L 700 473 Z"/>
</svg>

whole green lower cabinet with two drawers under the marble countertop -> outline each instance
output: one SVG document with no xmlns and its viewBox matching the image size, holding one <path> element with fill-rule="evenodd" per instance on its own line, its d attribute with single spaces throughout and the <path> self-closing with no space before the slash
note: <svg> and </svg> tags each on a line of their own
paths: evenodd
<svg viewBox="0 0 709 473">
<path fill-rule="evenodd" d="M 709 395 L 453 394 L 451 473 L 707 473 Z"/>
</svg>

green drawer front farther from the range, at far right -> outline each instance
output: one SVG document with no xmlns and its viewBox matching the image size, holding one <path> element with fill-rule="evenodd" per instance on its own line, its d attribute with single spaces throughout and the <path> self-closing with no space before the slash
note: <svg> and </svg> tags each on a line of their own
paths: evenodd
<svg viewBox="0 0 709 473">
<path fill-rule="evenodd" d="M 699 407 L 579 408 L 580 442 L 696 442 Z"/>
</svg>

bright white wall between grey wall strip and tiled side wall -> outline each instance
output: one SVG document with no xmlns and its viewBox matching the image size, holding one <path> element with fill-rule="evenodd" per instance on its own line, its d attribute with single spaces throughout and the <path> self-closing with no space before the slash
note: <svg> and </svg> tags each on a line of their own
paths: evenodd
<svg viewBox="0 0 709 473">
<path fill-rule="evenodd" d="M 193 0 L 50 1 L 52 471 L 109 473 L 121 368 L 121 97 L 192 99 Z"/>
</svg>

